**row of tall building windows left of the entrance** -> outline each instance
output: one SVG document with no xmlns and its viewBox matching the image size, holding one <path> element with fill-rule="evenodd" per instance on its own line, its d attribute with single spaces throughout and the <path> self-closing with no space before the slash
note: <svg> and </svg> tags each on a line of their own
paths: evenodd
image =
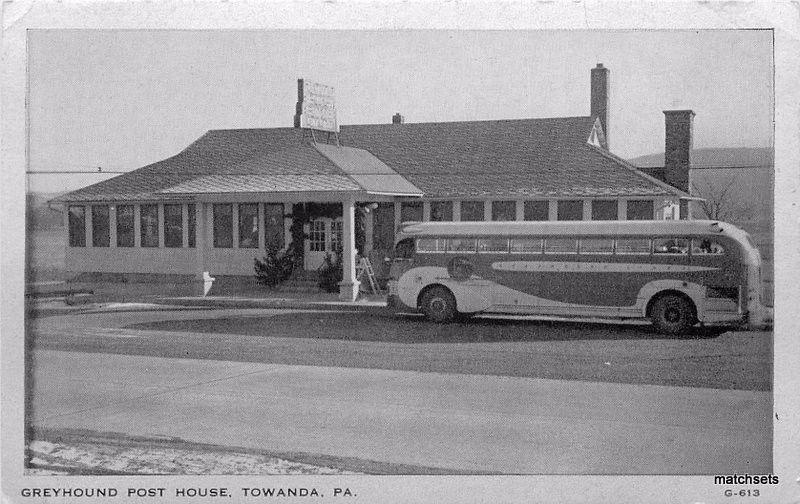
<svg viewBox="0 0 800 504">
<path fill-rule="evenodd" d="M 259 203 L 238 205 L 239 248 L 258 248 L 258 206 Z M 139 243 L 142 247 L 159 246 L 159 227 L 164 226 L 164 247 L 193 248 L 196 241 L 196 207 L 187 205 L 187 242 L 183 241 L 183 205 L 164 204 L 163 222 L 158 218 L 158 205 L 139 205 Z M 108 247 L 111 244 L 110 212 L 108 205 L 70 205 L 69 244 L 71 247 L 86 246 L 86 211 L 91 212 L 92 246 Z M 135 205 L 117 205 L 116 229 L 117 247 L 135 246 Z M 264 204 L 265 242 L 278 248 L 284 247 L 284 215 L 282 203 Z M 233 247 L 233 204 L 213 205 L 213 243 L 217 248 Z"/>
</svg>

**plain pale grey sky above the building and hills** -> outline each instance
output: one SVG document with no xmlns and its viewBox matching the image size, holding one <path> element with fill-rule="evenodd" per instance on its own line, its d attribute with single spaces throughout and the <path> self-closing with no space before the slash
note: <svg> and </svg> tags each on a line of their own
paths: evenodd
<svg viewBox="0 0 800 504">
<path fill-rule="evenodd" d="M 34 171 L 128 171 L 209 129 L 292 126 L 298 78 L 336 88 L 340 124 L 588 115 L 598 62 L 622 157 L 663 151 L 667 109 L 695 111 L 696 148 L 772 145 L 769 31 L 58 30 L 30 32 L 29 57 Z"/>
</svg>

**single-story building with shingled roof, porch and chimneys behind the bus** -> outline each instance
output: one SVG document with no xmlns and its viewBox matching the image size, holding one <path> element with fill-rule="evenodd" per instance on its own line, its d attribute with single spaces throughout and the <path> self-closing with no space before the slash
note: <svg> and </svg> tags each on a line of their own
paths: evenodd
<svg viewBox="0 0 800 504">
<path fill-rule="evenodd" d="M 252 275 L 302 241 L 315 270 L 341 250 L 382 259 L 405 221 L 685 218 L 691 111 L 667 111 L 664 180 L 609 149 L 609 71 L 582 117 L 212 130 L 173 157 L 58 198 L 70 272 Z M 683 213 L 681 213 L 683 209 Z M 358 247 L 357 247 L 358 246 Z M 376 262 L 373 260 L 373 263 Z"/>
</svg>

